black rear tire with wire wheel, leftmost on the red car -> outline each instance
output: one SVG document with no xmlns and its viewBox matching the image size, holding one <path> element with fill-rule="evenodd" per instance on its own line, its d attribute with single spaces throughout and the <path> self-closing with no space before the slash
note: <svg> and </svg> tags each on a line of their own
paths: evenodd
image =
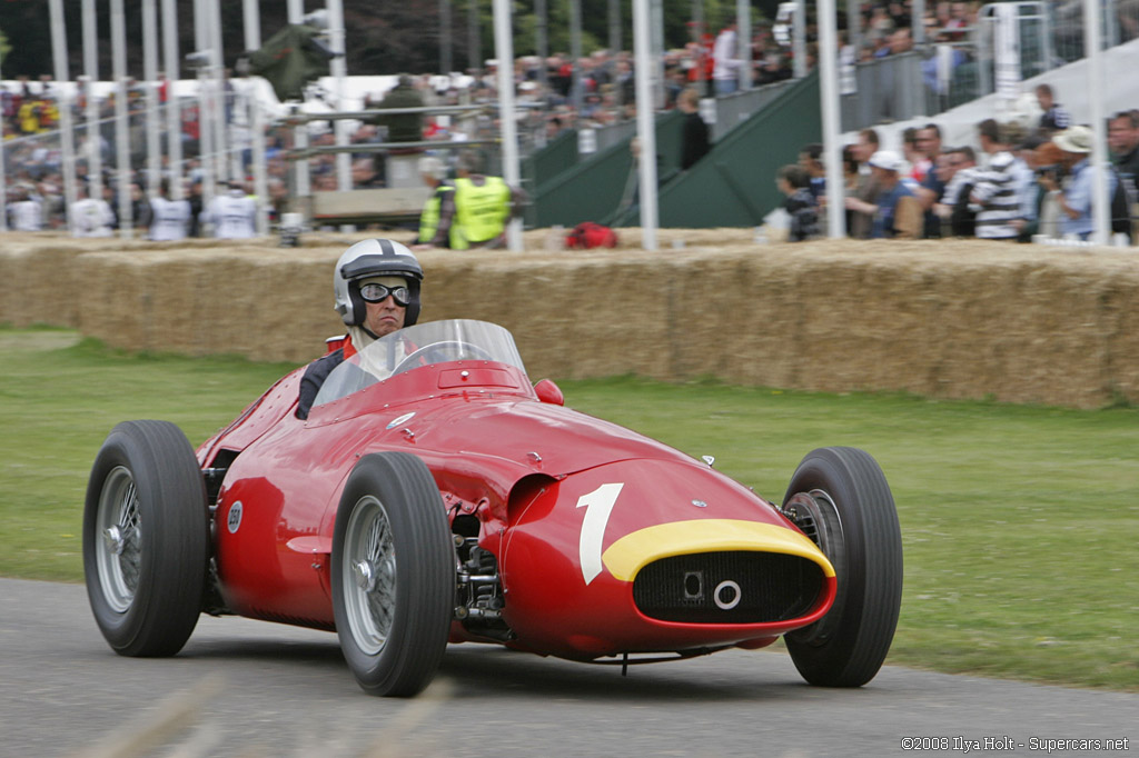
<svg viewBox="0 0 1139 758">
<path fill-rule="evenodd" d="M 202 611 L 210 562 L 205 481 L 186 435 L 126 421 L 107 436 L 83 506 L 83 572 L 96 624 L 121 656 L 173 656 Z"/>
</svg>

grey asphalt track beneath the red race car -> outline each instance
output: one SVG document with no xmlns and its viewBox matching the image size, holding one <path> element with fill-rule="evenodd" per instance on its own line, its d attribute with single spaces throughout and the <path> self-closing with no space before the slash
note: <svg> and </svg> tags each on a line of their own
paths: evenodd
<svg viewBox="0 0 1139 758">
<path fill-rule="evenodd" d="M 0 580 L 0 756 L 122 757 L 163 724 L 159 745 L 138 755 L 805 758 L 908 755 L 912 738 L 948 748 L 925 755 L 1139 755 L 1139 694 L 892 666 L 859 690 L 827 690 L 779 651 L 622 677 L 454 645 L 420 698 L 370 698 L 333 634 L 203 617 L 181 654 L 128 659 L 107 648 L 82 586 Z M 1113 751 L 1043 742 L 1122 739 Z"/>
</svg>

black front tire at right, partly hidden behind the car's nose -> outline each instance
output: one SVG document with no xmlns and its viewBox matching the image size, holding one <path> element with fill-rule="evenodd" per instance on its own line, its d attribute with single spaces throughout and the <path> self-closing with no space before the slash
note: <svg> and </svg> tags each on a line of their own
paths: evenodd
<svg viewBox="0 0 1139 758">
<path fill-rule="evenodd" d="M 902 535 L 886 477 L 861 450 L 812 451 L 792 477 L 784 512 L 837 577 L 827 615 L 785 635 L 795 668 L 811 684 L 862 686 L 886 659 L 902 602 Z"/>
</svg>

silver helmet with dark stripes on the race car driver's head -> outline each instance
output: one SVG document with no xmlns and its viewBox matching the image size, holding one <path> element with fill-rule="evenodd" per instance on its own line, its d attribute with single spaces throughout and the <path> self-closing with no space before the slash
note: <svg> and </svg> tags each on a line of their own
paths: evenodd
<svg viewBox="0 0 1139 758">
<path fill-rule="evenodd" d="M 403 277 L 411 290 L 403 326 L 410 327 L 419 319 L 419 282 L 424 270 L 407 246 L 390 239 L 366 239 L 344 250 L 333 272 L 333 291 L 336 312 L 349 327 L 363 323 L 366 306 L 360 297 L 360 280 L 370 277 Z"/>
</svg>

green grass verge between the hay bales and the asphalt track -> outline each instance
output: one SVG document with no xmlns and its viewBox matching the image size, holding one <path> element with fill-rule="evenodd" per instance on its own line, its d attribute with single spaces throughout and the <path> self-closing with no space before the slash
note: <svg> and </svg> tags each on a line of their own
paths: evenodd
<svg viewBox="0 0 1139 758">
<path fill-rule="evenodd" d="M 0 329 L 0 575 L 82 580 L 89 467 L 121 420 L 195 445 L 292 366 L 126 355 L 60 330 Z M 890 662 L 1139 691 L 1139 410 L 822 395 L 636 378 L 560 382 L 780 501 L 814 447 L 882 464 L 906 587 Z"/>
</svg>

